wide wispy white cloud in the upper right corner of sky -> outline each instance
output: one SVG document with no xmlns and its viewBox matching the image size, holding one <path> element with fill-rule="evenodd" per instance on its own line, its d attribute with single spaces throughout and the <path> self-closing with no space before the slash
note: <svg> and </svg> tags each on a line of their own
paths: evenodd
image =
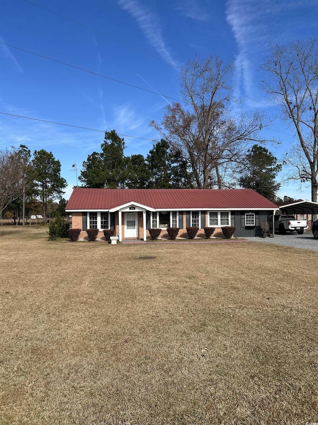
<svg viewBox="0 0 318 425">
<path fill-rule="evenodd" d="M 232 28 L 237 46 L 237 88 L 253 96 L 255 70 L 264 61 L 272 43 L 289 43 L 298 38 L 295 13 L 301 16 L 304 7 L 310 10 L 317 0 L 228 0 L 226 19 Z M 291 23 L 289 25 L 289 22 Z M 284 31 L 282 31 L 284 27 Z"/>
</svg>

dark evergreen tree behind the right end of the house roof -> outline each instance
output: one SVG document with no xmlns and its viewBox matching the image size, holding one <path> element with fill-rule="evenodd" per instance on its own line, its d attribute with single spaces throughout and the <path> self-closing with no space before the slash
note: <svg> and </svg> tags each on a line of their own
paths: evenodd
<svg viewBox="0 0 318 425">
<path fill-rule="evenodd" d="M 241 166 L 239 184 L 245 189 L 253 189 L 265 198 L 275 201 L 275 192 L 280 183 L 275 178 L 282 166 L 277 164 L 277 159 L 263 146 L 254 144 Z"/>
</svg>

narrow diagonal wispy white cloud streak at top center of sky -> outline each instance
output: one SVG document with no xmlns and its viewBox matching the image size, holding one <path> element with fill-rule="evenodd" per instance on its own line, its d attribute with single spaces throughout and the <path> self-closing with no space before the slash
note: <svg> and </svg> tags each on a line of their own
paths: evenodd
<svg viewBox="0 0 318 425">
<path fill-rule="evenodd" d="M 166 62 L 178 66 L 164 43 L 157 15 L 137 0 L 118 0 L 118 3 L 122 9 L 136 19 L 148 42 L 156 49 L 160 57 Z"/>
</svg>

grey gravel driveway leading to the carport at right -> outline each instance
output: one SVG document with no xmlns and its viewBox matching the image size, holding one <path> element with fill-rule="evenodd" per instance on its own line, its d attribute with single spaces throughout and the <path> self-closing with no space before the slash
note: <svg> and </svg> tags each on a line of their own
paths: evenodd
<svg viewBox="0 0 318 425">
<path fill-rule="evenodd" d="M 303 248 L 306 250 L 318 251 L 318 239 L 314 239 L 313 233 L 311 230 L 307 230 L 303 235 L 290 234 L 286 235 L 276 235 L 274 238 L 245 238 L 251 242 L 260 242 L 263 244 L 276 244 L 284 245 L 287 247 L 294 248 Z"/>
</svg>

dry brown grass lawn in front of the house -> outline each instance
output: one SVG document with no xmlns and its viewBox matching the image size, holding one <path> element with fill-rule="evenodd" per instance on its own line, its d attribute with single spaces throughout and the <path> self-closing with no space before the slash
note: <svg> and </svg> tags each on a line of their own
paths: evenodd
<svg viewBox="0 0 318 425">
<path fill-rule="evenodd" d="M 317 253 L 0 234 L 0 424 L 318 421 Z"/>
</svg>

